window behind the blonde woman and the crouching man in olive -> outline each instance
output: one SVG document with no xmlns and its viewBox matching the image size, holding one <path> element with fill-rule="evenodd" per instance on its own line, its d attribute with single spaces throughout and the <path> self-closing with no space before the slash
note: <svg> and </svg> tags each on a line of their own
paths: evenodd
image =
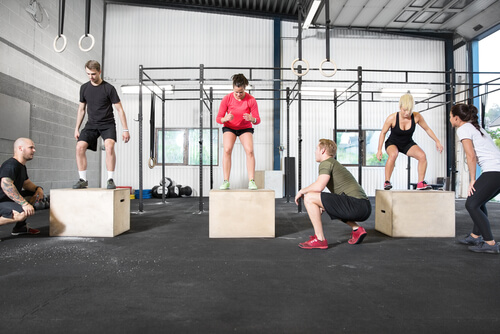
<svg viewBox="0 0 500 334">
<path fill-rule="evenodd" d="M 363 166 L 385 166 L 387 153 L 384 152 L 381 161 L 377 159 L 378 140 L 380 130 L 363 130 L 364 157 Z M 359 163 L 359 136 L 358 131 L 337 130 L 337 161 L 343 165 L 357 165 Z"/>
</svg>

